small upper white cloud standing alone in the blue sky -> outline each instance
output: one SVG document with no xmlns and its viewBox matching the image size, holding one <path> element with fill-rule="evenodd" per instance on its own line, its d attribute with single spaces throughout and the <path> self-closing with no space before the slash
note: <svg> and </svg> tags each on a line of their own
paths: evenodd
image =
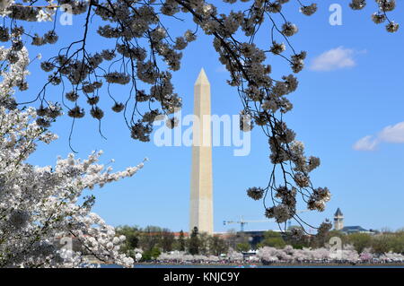
<svg viewBox="0 0 404 286">
<path fill-rule="evenodd" d="M 318 72 L 329 72 L 356 65 L 354 56 L 356 51 L 352 48 L 332 48 L 312 60 L 310 69 Z"/>
</svg>

